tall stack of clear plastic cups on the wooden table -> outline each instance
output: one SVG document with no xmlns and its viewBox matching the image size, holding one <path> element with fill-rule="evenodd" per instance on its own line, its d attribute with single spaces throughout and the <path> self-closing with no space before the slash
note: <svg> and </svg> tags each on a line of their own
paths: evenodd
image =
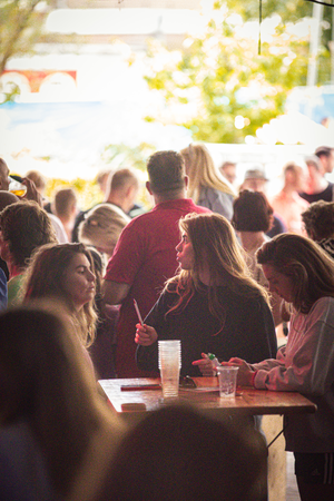
<svg viewBox="0 0 334 501">
<path fill-rule="evenodd" d="M 178 396 L 181 345 L 179 340 L 158 341 L 159 370 L 164 399 Z"/>
</svg>

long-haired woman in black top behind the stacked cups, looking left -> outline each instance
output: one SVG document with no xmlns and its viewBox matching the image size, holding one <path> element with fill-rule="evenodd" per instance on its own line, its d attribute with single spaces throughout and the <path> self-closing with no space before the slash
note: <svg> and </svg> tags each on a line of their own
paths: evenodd
<svg viewBox="0 0 334 501">
<path fill-rule="evenodd" d="M 250 277 L 232 225 L 218 214 L 190 214 L 179 227 L 179 274 L 136 326 L 138 366 L 158 370 L 158 340 L 181 341 L 184 375 L 206 374 L 208 352 L 224 361 L 235 352 L 248 361 L 275 356 L 267 293 Z"/>
</svg>

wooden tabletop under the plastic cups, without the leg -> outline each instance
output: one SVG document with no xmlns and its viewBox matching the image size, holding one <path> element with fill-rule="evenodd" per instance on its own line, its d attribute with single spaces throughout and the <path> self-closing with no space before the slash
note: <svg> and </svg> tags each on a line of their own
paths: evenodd
<svg viewBox="0 0 334 501">
<path fill-rule="evenodd" d="M 314 413 L 316 405 L 295 392 L 269 392 L 250 387 L 238 387 L 235 399 L 220 399 L 217 377 L 194 377 L 195 390 L 179 391 L 179 402 L 189 402 L 205 412 L 238 415 L 299 414 Z M 99 381 L 111 407 L 121 416 L 138 414 L 159 409 L 166 403 L 158 390 L 121 391 L 125 385 L 157 384 L 154 379 L 101 380 Z"/>
</svg>

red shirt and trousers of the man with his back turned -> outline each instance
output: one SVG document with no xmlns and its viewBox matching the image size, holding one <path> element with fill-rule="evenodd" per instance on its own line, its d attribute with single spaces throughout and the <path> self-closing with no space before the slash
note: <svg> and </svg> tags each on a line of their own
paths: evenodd
<svg viewBox="0 0 334 501">
<path fill-rule="evenodd" d="M 136 365 L 135 334 L 137 301 L 143 318 L 159 297 L 167 278 L 178 267 L 175 247 L 180 240 L 178 220 L 189 213 L 210 213 L 191 199 L 163 202 L 149 213 L 132 219 L 122 230 L 110 258 L 106 281 L 131 284 L 121 304 L 117 324 L 116 373 L 118 377 L 150 375 Z"/>
</svg>

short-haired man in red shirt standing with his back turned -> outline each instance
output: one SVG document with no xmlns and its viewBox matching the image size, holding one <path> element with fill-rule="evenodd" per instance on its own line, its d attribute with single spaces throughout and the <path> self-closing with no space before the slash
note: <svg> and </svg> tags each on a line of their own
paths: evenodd
<svg viewBox="0 0 334 501">
<path fill-rule="evenodd" d="M 132 219 L 122 230 L 110 258 L 102 292 L 106 304 L 121 304 L 117 324 L 118 377 L 145 377 L 136 365 L 137 301 L 143 318 L 159 297 L 165 282 L 178 267 L 175 247 L 180 239 L 178 220 L 189 213 L 208 213 L 186 198 L 188 178 L 183 157 L 157 151 L 147 164 L 146 188 L 155 207 Z"/>
</svg>

